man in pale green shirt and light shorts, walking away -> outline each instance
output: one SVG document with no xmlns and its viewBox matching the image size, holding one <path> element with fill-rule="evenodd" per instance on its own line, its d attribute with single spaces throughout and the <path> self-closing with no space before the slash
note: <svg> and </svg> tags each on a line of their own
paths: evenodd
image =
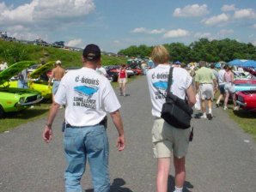
<svg viewBox="0 0 256 192">
<path fill-rule="evenodd" d="M 201 99 L 201 110 L 203 115 L 201 118 L 207 118 L 206 116 L 206 100 L 208 103 L 208 111 L 210 119 L 212 118 L 212 99 L 214 97 L 213 93 L 216 89 L 216 77 L 213 75 L 211 69 L 205 67 L 206 62 L 199 62 L 198 71 L 196 71 L 195 81 L 196 81 L 196 90 Z"/>
</svg>

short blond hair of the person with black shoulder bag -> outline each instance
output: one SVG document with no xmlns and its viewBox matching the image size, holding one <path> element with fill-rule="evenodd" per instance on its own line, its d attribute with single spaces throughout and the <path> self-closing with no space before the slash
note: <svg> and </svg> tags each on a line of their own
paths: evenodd
<svg viewBox="0 0 256 192">
<path fill-rule="evenodd" d="M 168 50 L 163 45 L 155 46 L 150 57 L 157 64 L 168 63 L 170 58 Z"/>
</svg>

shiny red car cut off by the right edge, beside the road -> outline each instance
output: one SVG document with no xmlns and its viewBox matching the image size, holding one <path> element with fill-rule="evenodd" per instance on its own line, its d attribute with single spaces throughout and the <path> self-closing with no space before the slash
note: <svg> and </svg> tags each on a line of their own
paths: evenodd
<svg viewBox="0 0 256 192">
<path fill-rule="evenodd" d="M 256 111 L 256 91 L 241 91 L 235 93 L 236 103 L 241 106 L 242 109 L 248 111 Z"/>
</svg>

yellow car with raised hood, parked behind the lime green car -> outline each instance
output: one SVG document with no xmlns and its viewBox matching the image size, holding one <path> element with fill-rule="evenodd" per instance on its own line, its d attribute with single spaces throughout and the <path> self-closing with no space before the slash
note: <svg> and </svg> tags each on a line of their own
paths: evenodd
<svg viewBox="0 0 256 192">
<path fill-rule="evenodd" d="M 27 82 L 30 89 L 34 89 L 42 94 L 44 99 L 52 99 L 52 86 L 48 86 L 47 81 L 41 81 L 40 75 L 45 74 L 47 71 L 53 68 L 54 62 L 46 63 L 40 68 L 35 69 L 29 77 L 31 80 Z M 7 83 L 7 82 L 6 82 Z M 4 85 L 6 85 L 6 83 Z M 9 87 L 18 87 L 18 81 L 9 81 Z"/>
</svg>

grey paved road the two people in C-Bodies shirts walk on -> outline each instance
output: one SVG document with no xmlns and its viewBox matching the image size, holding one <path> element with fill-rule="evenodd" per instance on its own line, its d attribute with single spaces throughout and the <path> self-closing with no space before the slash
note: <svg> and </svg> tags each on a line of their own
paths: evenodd
<svg viewBox="0 0 256 192">
<path fill-rule="evenodd" d="M 131 81 L 127 97 L 119 97 L 125 123 L 126 148 L 114 147 L 117 132 L 108 122 L 112 191 L 155 191 L 156 161 L 151 150 L 149 92 L 145 76 Z M 186 158 L 186 189 L 197 192 L 256 190 L 256 144 L 225 111 L 215 109 L 209 120 L 193 119 L 194 141 Z M 46 117 L 0 134 L 0 191 L 64 191 L 64 154 L 60 126 L 64 110 L 53 124 L 50 144 L 41 139 Z M 0 125 L 4 126 L 4 125 Z M 169 191 L 174 187 L 170 172 Z M 89 168 L 82 178 L 85 192 L 93 192 Z"/>
</svg>

